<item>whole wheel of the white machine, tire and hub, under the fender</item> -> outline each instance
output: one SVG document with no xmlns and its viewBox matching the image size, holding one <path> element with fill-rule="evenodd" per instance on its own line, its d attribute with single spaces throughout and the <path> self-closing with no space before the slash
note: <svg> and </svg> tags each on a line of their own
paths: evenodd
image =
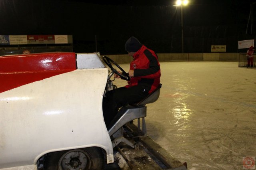
<svg viewBox="0 0 256 170">
<path fill-rule="evenodd" d="M 82 148 L 47 154 L 44 170 L 101 170 L 104 155 L 100 148 Z"/>
</svg>

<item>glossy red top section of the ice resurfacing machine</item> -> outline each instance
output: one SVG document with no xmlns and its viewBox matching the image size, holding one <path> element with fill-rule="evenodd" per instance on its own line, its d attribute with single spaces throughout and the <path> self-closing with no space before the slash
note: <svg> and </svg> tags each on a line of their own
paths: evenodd
<svg viewBox="0 0 256 170">
<path fill-rule="evenodd" d="M 0 93 L 75 69 L 71 52 L 0 56 Z"/>
</svg>

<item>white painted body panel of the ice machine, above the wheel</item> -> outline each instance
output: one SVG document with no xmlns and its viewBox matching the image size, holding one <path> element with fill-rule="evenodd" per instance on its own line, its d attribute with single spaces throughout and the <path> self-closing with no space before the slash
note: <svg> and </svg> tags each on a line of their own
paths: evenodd
<svg viewBox="0 0 256 170">
<path fill-rule="evenodd" d="M 108 69 L 97 62 L 0 93 L 0 169 L 36 169 L 48 152 L 91 146 L 114 162 L 102 114 Z"/>
</svg>

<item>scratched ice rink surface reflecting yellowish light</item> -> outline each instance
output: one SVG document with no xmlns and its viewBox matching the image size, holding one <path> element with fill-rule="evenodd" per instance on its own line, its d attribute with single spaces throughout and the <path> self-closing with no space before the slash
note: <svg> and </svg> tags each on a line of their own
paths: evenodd
<svg viewBox="0 0 256 170">
<path fill-rule="evenodd" d="M 129 64 L 120 66 L 128 72 Z M 148 136 L 188 170 L 241 170 L 244 157 L 256 157 L 255 68 L 205 61 L 160 67 L 160 97 L 147 105 Z"/>
</svg>

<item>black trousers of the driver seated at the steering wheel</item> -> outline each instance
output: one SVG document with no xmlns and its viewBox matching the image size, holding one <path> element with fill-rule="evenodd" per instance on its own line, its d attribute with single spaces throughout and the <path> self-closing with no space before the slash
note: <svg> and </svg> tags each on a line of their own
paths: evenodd
<svg viewBox="0 0 256 170">
<path fill-rule="evenodd" d="M 148 95 L 148 88 L 137 85 L 130 88 L 120 87 L 108 91 L 106 97 L 103 97 L 103 116 L 106 127 L 116 116 L 118 109 L 122 106 L 138 103 Z"/>
</svg>

